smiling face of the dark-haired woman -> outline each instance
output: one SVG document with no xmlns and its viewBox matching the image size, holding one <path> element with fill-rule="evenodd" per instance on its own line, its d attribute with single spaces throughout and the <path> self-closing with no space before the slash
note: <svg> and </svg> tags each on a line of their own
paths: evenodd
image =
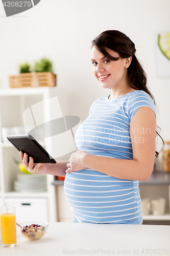
<svg viewBox="0 0 170 256">
<path fill-rule="evenodd" d="M 119 57 L 117 52 L 107 50 L 113 57 Z M 91 62 L 93 74 L 100 81 L 103 88 L 116 89 L 127 85 L 127 70 L 131 63 L 131 57 L 127 59 L 119 58 L 110 60 L 94 47 L 91 49 Z"/>
</svg>

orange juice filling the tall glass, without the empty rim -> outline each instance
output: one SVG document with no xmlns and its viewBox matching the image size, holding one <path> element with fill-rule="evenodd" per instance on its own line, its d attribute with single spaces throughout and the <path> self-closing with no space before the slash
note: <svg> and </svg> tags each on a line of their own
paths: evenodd
<svg viewBox="0 0 170 256">
<path fill-rule="evenodd" d="M 15 214 L 7 213 L 0 215 L 1 242 L 2 244 L 16 244 Z"/>
</svg>

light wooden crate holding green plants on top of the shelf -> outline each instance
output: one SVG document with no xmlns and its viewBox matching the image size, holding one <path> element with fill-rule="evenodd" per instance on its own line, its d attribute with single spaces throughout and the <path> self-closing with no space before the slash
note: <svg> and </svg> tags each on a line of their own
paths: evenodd
<svg viewBox="0 0 170 256">
<path fill-rule="evenodd" d="M 10 87 L 54 87 L 56 75 L 51 72 L 22 73 L 9 76 Z"/>
</svg>

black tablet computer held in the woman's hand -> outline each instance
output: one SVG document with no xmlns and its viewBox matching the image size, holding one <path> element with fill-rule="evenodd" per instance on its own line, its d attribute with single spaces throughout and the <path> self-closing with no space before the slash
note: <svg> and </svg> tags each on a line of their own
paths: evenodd
<svg viewBox="0 0 170 256">
<path fill-rule="evenodd" d="M 7 139 L 17 148 L 18 151 L 27 153 L 34 159 L 34 163 L 56 163 L 46 150 L 31 135 L 7 136 Z"/>
</svg>

